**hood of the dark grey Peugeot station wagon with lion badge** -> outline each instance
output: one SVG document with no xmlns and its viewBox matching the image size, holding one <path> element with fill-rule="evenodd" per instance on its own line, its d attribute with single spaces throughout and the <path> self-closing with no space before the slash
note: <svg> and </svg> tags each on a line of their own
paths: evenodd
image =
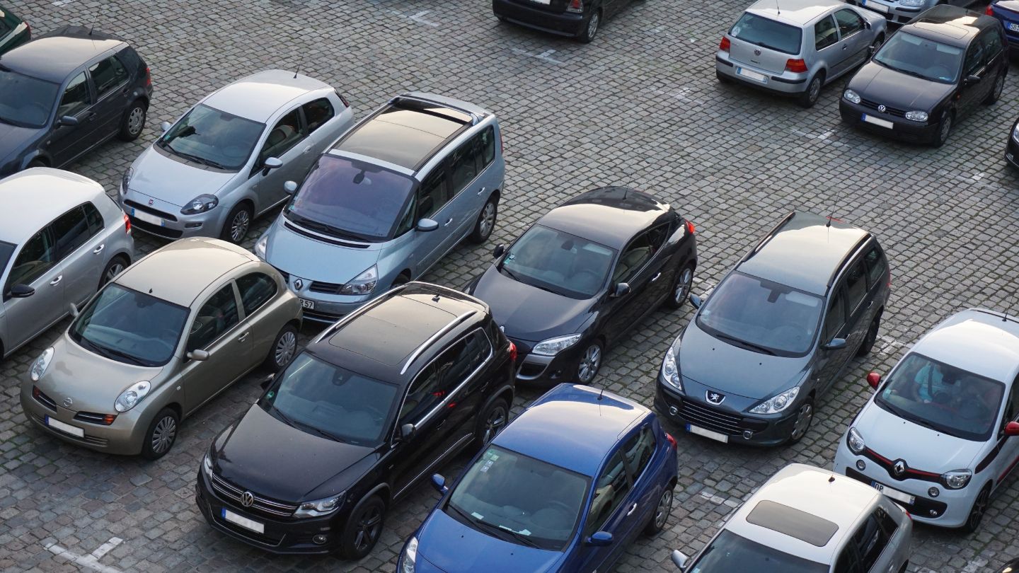
<svg viewBox="0 0 1019 573">
<path fill-rule="evenodd" d="M 761 354 L 711 336 L 691 320 L 683 332 L 678 357 L 680 373 L 701 385 L 753 400 L 793 387 L 810 356 Z"/>
</svg>

